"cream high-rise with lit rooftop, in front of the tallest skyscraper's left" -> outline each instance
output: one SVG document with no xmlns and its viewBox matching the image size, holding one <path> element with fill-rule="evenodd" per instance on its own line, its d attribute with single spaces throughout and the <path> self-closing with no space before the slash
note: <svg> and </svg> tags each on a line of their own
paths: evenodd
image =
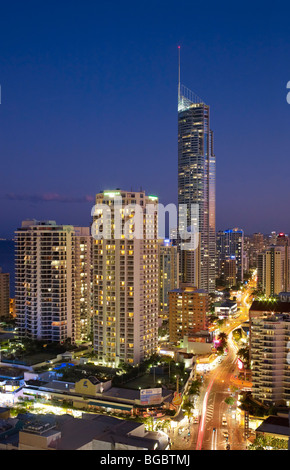
<svg viewBox="0 0 290 470">
<path fill-rule="evenodd" d="M 158 198 L 144 191 L 96 195 L 94 351 L 106 364 L 139 364 L 157 350 L 157 204 Z"/>
</svg>

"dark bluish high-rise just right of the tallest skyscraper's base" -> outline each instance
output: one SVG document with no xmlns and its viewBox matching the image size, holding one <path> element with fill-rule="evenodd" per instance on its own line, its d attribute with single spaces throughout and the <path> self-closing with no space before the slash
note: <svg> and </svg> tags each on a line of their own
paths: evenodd
<svg viewBox="0 0 290 470">
<path fill-rule="evenodd" d="M 225 260 L 235 260 L 236 282 L 244 279 L 244 232 L 239 228 L 219 231 L 216 234 L 217 277 L 222 276 Z"/>
</svg>

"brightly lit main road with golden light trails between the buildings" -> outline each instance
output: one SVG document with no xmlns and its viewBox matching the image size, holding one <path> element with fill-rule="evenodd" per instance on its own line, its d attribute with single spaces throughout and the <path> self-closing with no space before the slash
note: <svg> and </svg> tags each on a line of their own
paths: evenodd
<svg viewBox="0 0 290 470">
<path fill-rule="evenodd" d="M 236 421 L 235 406 L 231 407 L 226 404 L 225 399 L 232 395 L 232 379 L 238 374 L 237 350 L 231 333 L 248 320 L 249 295 L 253 287 L 255 287 L 254 280 L 238 298 L 239 317 L 223 329 L 228 335 L 227 356 L 215 369 L 204 374 L 204 383 L 197 404 L 200 410 L 199 425 L 183 425 L 183 432 L 180 434 L 176 430 L 175 435 L 172 436 L 174 440 L 172 449 L 225 450 L 227 445 L 231 450 L 246 448 L 243 429 Z"/>
</svg>

